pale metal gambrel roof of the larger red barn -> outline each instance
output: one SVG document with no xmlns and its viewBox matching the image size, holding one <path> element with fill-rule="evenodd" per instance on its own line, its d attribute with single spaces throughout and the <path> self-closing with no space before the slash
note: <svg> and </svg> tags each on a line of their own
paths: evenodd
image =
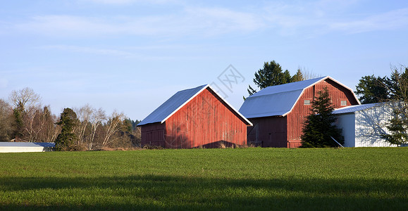
<svg viewBox="0 0 408 211">
<path fill-rule="evenodd" d="M 330 79 L 342 87 L 349 89 L 354 95 L 352 89 L 346 87 L 335 79 L 326 76 L 315 79 L 308 79 L 300 82 L 281 84 L 277 86 L 266 87 L 261 91 L 249 96 L 240 108 L 240 113 L 247 118 L 285 116 L 290 113 L 296 102 L 302 96 L 304 89 L 323 80 Z M 357 97 L 356 101 L 358 101 Z"/>
</svg>

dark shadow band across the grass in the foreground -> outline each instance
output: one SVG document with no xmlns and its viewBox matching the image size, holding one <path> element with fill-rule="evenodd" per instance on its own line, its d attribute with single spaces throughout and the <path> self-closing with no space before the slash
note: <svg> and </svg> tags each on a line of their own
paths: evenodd
<svg viewBox="0 0 408 211">
<path fill-rule="evenodd" d="M 0 210 L 405 210 L 406 180 L 2 177 Z"/>
</svg>

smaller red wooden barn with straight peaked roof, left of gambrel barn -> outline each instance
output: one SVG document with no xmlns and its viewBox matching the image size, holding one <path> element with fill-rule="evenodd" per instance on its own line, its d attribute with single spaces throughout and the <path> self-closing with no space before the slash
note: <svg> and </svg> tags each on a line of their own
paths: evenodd
<svg viewBox="0 0 408 211">
<path fill-rule="evenodd" d="M 252 125 L 209 85 L 178 91 L 142 122 L 142 146 L 206 148 L 246 145 Z"/>
</svg>

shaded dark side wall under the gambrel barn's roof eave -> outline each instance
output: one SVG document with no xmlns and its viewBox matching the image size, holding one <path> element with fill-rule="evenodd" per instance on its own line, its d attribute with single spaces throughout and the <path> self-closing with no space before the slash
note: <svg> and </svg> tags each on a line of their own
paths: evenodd
<svg viewBox="0 0 408 211">
<path fill-rule="evenodd" d="M 261 147 L 287 147 L 286 117 L 261 117 L 249 119 L 249 144 Z"/>
</svg>

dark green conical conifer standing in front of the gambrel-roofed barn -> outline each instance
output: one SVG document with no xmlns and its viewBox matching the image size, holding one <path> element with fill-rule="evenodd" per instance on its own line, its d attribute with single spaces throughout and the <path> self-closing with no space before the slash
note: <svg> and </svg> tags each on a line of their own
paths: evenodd
<svg viewBox="0 0 408 211">
<path fill-rule="evenodd" d="M 318 92 L 311 104 L 311 115 L 304 121 L 302 147 L 337 147 L 331 137 L 343 144 L 341 130 L 335 127 L 334 106 L 330 101 L 328 89 Z"/>
</svg>

